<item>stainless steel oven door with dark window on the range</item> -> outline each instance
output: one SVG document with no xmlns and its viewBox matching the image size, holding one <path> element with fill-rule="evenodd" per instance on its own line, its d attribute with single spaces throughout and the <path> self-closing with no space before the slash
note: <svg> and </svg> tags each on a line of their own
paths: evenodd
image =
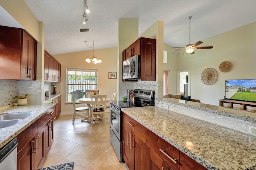
<svg viewBox="0 0 256 170">
<path fill-rule="evenodd" d="M 122 111 L 110 104 L 110 128 L 119 141 L 122 141 Z"/>
</svg>

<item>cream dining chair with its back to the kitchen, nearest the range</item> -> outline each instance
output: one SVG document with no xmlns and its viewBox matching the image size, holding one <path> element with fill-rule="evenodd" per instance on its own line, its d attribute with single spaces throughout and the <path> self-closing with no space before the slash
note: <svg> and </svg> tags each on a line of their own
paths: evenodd
<svg viewBox="0 0 256 170">
<path fill-rule="evenodd" d="M 106 125 L 106 100 L 107 95 L 92 95 L 92 104 L 90 108 L 90 121 L 93 127 L 93 121 L 95 117 L 95 122 L 98 118 L 102 119 L 104 125 Z"/>
</svg>

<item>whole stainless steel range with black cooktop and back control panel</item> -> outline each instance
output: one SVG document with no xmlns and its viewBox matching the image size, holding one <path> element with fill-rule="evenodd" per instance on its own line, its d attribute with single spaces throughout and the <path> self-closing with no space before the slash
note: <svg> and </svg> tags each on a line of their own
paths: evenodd
<svg viewBox="0 0 256 170">
<path fill-rule="evenodd" d="M 134 90 L 134 100 L 110 102 L 110 142 L 122 162 L 122 111 L 121 108 L 154 106 L 154 90 Z"/>
</svg>

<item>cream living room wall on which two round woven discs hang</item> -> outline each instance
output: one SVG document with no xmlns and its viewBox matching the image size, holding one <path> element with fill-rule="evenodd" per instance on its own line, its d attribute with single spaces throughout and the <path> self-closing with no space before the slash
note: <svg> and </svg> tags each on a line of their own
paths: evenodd
<svg viewBox="0 0 256 170">
<path fill-rule="evenodd" d="M 212 49 L 195 50 L 193 55 L 186 52 L 184 55 L 182 52 L 172 54 L 171 57 L 168 55 L 170 58 L 176 57 L 177 71 L 191 70 L 191 98 L 200 99 L 200 102 L 205 104 L 219 105 L 219 100 L 225 96 L 226 79 L 256 78 L 255 30 L 256 22 L 250 23 L 209 39 L 198 40 L 204 42 L 199 47 L 212 45 Z M 229 72 L 219 70 L 219 65 L 223 61 L 232 63 Z M 174 66 L 172 62 L 168 61 L 168 64 L 171 68 Z M 201 74 L 206 68 L 214 68 L 218 72 L 218 80 L 212 85 L 206 85 L 201 81 Z M 176 82 L 176 75 L 172 75 L 170 79 L 171 82 Z M 173 90 L 174 83 L 170 86 L 170 92 L 176 94 Z"/>
</svg>

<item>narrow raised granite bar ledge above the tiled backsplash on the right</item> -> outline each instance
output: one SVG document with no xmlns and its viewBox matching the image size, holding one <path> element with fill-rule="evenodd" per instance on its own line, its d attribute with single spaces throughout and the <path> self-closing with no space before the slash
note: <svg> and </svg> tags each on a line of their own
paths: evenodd
<svg viewBox="0 0 256 170">
<path fill-rule="evenodd" d="M 166 102 L 170 104 L 175 104 L 178 106 L 184 106 L 192 109 L 207 111 L 209 113 L 214 113 L 218 115 L 224 115 L 228 117 L 232 117 L 235 119 L 240 119 L 244 121 L 250 121 L 256 123 L 256 113 L 245 111 L 245 110 L 238 110 L 238 109 L 230 109 L 222 106 L 215 106 L 210 104 L 203 104 L 200 102 L 190 102 L 186 100 L 179 100 L 174 98 L 157 98 L 156 102 Z"/>
</svg>

